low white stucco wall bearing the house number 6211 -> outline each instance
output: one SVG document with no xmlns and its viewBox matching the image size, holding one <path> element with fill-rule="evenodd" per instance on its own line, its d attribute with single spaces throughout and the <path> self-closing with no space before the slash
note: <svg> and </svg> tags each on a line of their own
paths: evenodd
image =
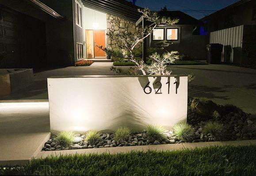
<svg viewBox="0 0 256 176">
<path fill-rule="evenodd" d="M 113 132 L 120 126 L 141 131 L 148 124 L 170 129 L 187 120 L 187 77 L 78 76 L 47 82 L 51 132 Z"/>
</svg>

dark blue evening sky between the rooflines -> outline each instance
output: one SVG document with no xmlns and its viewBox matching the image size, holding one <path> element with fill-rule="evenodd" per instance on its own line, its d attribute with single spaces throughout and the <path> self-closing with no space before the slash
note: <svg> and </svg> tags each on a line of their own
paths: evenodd
<svg viewBox="0 0 256 176">
<path fill-rule="evenodd" d="M 237 1 L 239 0 L 136 0 L 136 5 L 149 7 L 151 10 L 160 10 L 166 6 L 168 10 L 180 10 L 200 19 Z"/>
</svg>

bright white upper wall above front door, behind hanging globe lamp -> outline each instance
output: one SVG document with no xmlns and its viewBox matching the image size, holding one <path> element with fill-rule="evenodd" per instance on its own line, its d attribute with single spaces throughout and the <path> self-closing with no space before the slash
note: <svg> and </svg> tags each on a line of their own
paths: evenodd
<svg viewBox="0 0 256 176">
<path fill-rule="evenodd" d="M 97 22 L 99 24 L 98 29 L 104 29 L 107 30 L 107 14 L 95 11 L 91 8 L 84 7 L 84 18 L 83 18 L 83 24 L 84 29 L 94 29 L 92 24 L 94 22 Z"/>
</svg>

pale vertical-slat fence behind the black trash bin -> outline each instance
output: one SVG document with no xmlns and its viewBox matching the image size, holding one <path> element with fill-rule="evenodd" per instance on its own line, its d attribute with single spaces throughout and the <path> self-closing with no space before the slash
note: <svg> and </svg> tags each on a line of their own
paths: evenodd
<svg viewBox="0 0 256 176">
<path fill-rule="evenodd" d="M 233 48 L 241 47 L 243 43 L 244 26 L 236 26 L 233 28 L 222 29 L 210 33 L 210 43 L 222 44 L 222 62 L 224 61 L 224 46 L 230 45 L 232 48 L 229 62 L 233 62 Z"/>
</svg>

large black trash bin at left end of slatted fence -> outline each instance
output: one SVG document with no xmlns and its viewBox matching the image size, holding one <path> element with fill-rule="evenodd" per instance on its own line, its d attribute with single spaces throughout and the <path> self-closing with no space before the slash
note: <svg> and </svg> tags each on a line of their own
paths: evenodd
<svg viewBox="0 0 256 176">
<path fill-rule="evenodd" d="M 207 63 L 220 64 L 222 62 L 222 44 L 207 44 Z"/>
</svg>

